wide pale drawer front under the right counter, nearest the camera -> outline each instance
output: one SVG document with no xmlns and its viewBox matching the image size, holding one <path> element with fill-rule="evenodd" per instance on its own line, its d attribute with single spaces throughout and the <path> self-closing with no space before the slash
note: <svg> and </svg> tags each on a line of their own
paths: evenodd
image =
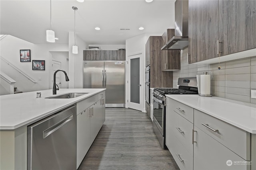
<svg viewBox="0 0 256 170">
<path fill-rule="evenodd" d="M 194 125 L 245 160 L 250 160 L 250 133 L 196 109 Z"/>
</svg>

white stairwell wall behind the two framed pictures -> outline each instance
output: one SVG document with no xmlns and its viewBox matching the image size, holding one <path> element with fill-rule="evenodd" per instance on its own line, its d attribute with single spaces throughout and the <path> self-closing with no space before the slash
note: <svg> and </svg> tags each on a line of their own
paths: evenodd
<svg viewBox="0 0 256 170">
<path fill-rule="evenodd" d="M 31 62 L 20 62 L 20 49 L 30 49 Z M 52 60 L 50 51 L 68 51 L 67 44 L 33 44 L 12 35 L 1 40 L 0 55 L 15 65 L 37 83 L 33 83 L 1 60 L 0 70 L 16 81 L 18 91 L 31 92 L 49 88 L 49 72 Z M 45 60 L 45 70 L 32 70 L 32 60 Z"/>
</svg>

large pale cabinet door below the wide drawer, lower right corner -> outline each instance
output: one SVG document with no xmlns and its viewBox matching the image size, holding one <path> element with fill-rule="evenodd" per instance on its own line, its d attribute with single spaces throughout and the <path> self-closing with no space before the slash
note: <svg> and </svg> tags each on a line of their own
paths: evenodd
<svg viewBox="0 0 256 170">
<path fill-rule="evenodd" d="M 194 143 L 194 170 L 250 170 L 250 165 L 235 164 L 234 161 L 245 161 L 240 156 L 224 147 L 198 127 L 195 127 L 194 130 L 196 131 L 194 139 L 196 141 Z M 229 164 L 228 160 L 231 160 L 232 165 Z"/>
</svg>

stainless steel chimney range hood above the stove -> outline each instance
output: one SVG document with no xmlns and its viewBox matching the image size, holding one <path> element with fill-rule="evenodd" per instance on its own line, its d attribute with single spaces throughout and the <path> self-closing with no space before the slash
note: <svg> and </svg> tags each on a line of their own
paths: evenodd
<svg viewBox="0 0 256 170">
<path fill-rule="evenodd" d="M 175 36 L 161 50 L 183 50 L 188 47 L 188 0 L 175 2 Z"/>
</svg>

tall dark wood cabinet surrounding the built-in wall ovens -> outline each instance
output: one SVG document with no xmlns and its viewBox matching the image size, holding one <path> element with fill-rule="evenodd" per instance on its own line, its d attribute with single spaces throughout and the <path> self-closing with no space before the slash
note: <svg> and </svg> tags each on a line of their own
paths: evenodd
<svg viewBox="0 0 256 170">
<path fill-rule="evenodd" d="M 172 87 L 172 72 L 162 71 L 163 39 L 161 36 L 150 36 L 146 43 L 146 58 L 150 59 L 150 87 Z"/>
</svg>

